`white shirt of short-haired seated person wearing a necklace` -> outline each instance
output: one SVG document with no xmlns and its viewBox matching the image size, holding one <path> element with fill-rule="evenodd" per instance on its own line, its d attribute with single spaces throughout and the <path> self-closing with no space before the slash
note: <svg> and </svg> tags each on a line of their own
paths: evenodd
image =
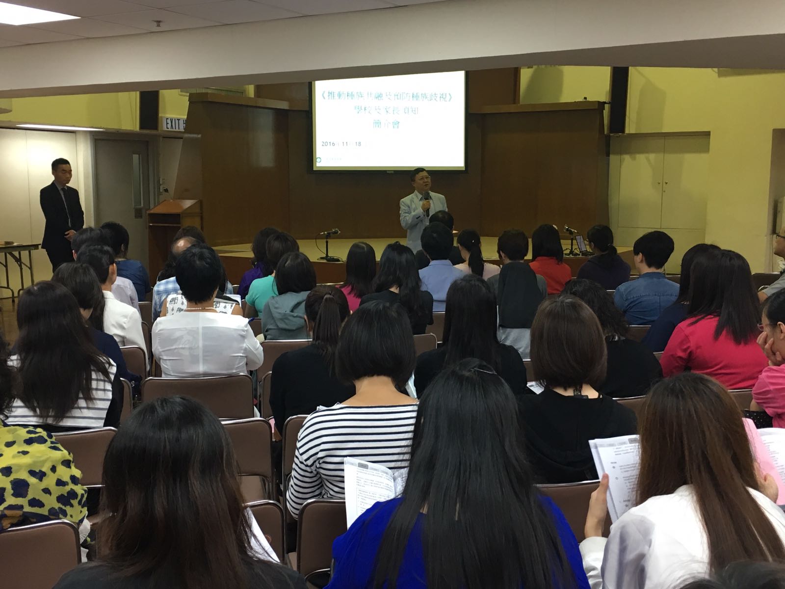
<svg viewBox="0 0 785 589">
<path fill-rule="evenodd" d="M 155 321 L 152 353 L 167 378 L 245 374 L 265 357 L 245 317 L 199 311 Z"/>
</svg>

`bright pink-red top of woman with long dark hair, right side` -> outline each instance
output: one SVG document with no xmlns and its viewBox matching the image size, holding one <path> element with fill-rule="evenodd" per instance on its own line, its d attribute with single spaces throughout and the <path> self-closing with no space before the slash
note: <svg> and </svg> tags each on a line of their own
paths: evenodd
<svg viewBox="0 0 785 589">
<path fill-rule="evenodd" d="M 663 376 L 689 369 L 716 379 L 728 389 L 751 389 L 769 364 L 755 337 L 739 346 L 725 331 L 715 340 L 719 317 L 707 316 L 696 324 L 694 321 L 694 318 L 682 321 L 670 336 L 659 360 Z"/>
</svg>

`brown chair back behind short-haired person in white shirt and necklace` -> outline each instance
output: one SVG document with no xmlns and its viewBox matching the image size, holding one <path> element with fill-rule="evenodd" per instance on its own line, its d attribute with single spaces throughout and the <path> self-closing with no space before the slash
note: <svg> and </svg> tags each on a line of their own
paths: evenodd
<svg viewBox="0 0 785 589">
<path fill-rule="evenodd" d="M 141 401 L 184 395 L 204 404 L 221 419 L 254 417 L 254 383 L 248 375 L 152 377 L 142 382 Z"/>
</svg>

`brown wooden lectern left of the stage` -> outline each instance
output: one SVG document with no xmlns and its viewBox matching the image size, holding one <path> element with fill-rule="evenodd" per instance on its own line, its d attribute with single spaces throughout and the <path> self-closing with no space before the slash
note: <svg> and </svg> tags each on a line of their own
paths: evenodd
<svg viewBox="0 0 785 589">
<path fill-rule="evenodd" d="M 174 236 L 186 225 L 203 229 L 201 200 L 164 200 L 158 207 L 148 210 L 148 257 L 152 284 L 166 264 Z"/>
</svg>

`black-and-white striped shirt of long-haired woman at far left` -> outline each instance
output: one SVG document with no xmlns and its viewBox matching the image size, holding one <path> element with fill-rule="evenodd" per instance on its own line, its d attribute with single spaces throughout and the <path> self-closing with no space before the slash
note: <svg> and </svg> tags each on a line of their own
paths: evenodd
<svg viewBox="0 0 785 589">
<path fill-rule="evenodd" d="M 74 408 L 68 412 L 62 421 L 52 423 L 57 427 L 90 428 L 103 427 L 106 414 L 112 399 L 112 381 L 115 379 L 117 365 L 104 358 L 107 362 L 109 379 L 106 379 L 100 372 L 93 370 L 90 390 L 93 393 L 93 401 L 88 403 L 82 395 L 76 401 Z M 9 366 L 19 368 L 20 358 L 18 355 L 9 357 Z M 24 406 L 21 401 L 14 399 L 8 412 L 8 419 L 5 422 L 9 425 L 46 425 L 46 421 L 39 415 L 35 415 L 30 409 Z"/>
</svg>

